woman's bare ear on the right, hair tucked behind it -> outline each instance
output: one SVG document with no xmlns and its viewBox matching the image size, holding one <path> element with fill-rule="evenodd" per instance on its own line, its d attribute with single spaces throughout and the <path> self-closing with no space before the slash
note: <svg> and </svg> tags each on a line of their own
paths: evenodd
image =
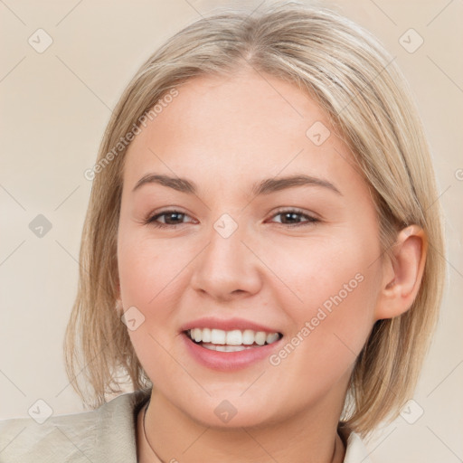
<svg viewBox="0 0 463 463">
<path fill-rule="evenodd" d="M 428 240 L 418 225 L 404 228 L 392 246 L 395 262 L 386 256 L 375 320 L 398 317 L 410 307 L 420 289 Z"/>
</svg>

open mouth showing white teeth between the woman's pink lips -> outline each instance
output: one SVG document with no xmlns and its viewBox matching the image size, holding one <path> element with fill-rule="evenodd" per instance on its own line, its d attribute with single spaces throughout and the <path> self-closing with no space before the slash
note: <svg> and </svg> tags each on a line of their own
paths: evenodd
<svg viewBox="0 0 463 463">
<path fill-rule="evenodd" d="M 251 329 L 224 331 L 214 328 L 192 328 L 184 331 L 195 344 L 219 352 L 239 352 L 270 345 L 279 341 L 281 333 L 267 333 Z"/>
</svg>

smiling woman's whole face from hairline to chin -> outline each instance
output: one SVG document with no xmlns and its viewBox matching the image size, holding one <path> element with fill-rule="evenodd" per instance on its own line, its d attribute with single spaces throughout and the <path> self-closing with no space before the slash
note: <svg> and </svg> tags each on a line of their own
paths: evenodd
<svg viewBox="0 0 463 463">
<path fill-rule="evenodd" d="M 288 82 L 246 71 L 177 90 L 123 173 L 120 296 L 140 363 L 208 426 L 340 412 L 383 279 L 353 156 Z"/>
</svg>

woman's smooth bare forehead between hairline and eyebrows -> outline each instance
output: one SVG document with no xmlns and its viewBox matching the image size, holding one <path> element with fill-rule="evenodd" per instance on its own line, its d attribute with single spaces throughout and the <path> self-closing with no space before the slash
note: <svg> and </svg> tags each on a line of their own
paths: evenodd
<svg viewBox="0 0 463 463">
<path fill-rule="evenodd" d="M 177 90 L 128 147 L 124 184 L 151 171 L 199 183 L 300 171 L 358 182 L 354 157 L 326 113 L 295 84 L 243 71 L 197 77 Z"/>
</svg>

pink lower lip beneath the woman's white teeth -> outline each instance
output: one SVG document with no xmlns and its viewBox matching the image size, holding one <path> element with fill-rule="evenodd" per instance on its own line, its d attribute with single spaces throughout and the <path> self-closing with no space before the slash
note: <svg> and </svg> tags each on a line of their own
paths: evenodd
<svg viewBox="0 0 463 463">
<path fill-rule="evenodd" d="M 220 352 L 206 349 L 194 343 L 185 333 L 182 334 L 182 338 L 184 339 L 187 351 L 193 356 L 194 360 L 203 366 L 222 372 L 240 370 L 264 358 L 268 358 L 269 355 L 278 348 L 282 339 L 269 345 L 260 345 L 259 347 L 252 347 L 238 352 Z"/>
</svg>

